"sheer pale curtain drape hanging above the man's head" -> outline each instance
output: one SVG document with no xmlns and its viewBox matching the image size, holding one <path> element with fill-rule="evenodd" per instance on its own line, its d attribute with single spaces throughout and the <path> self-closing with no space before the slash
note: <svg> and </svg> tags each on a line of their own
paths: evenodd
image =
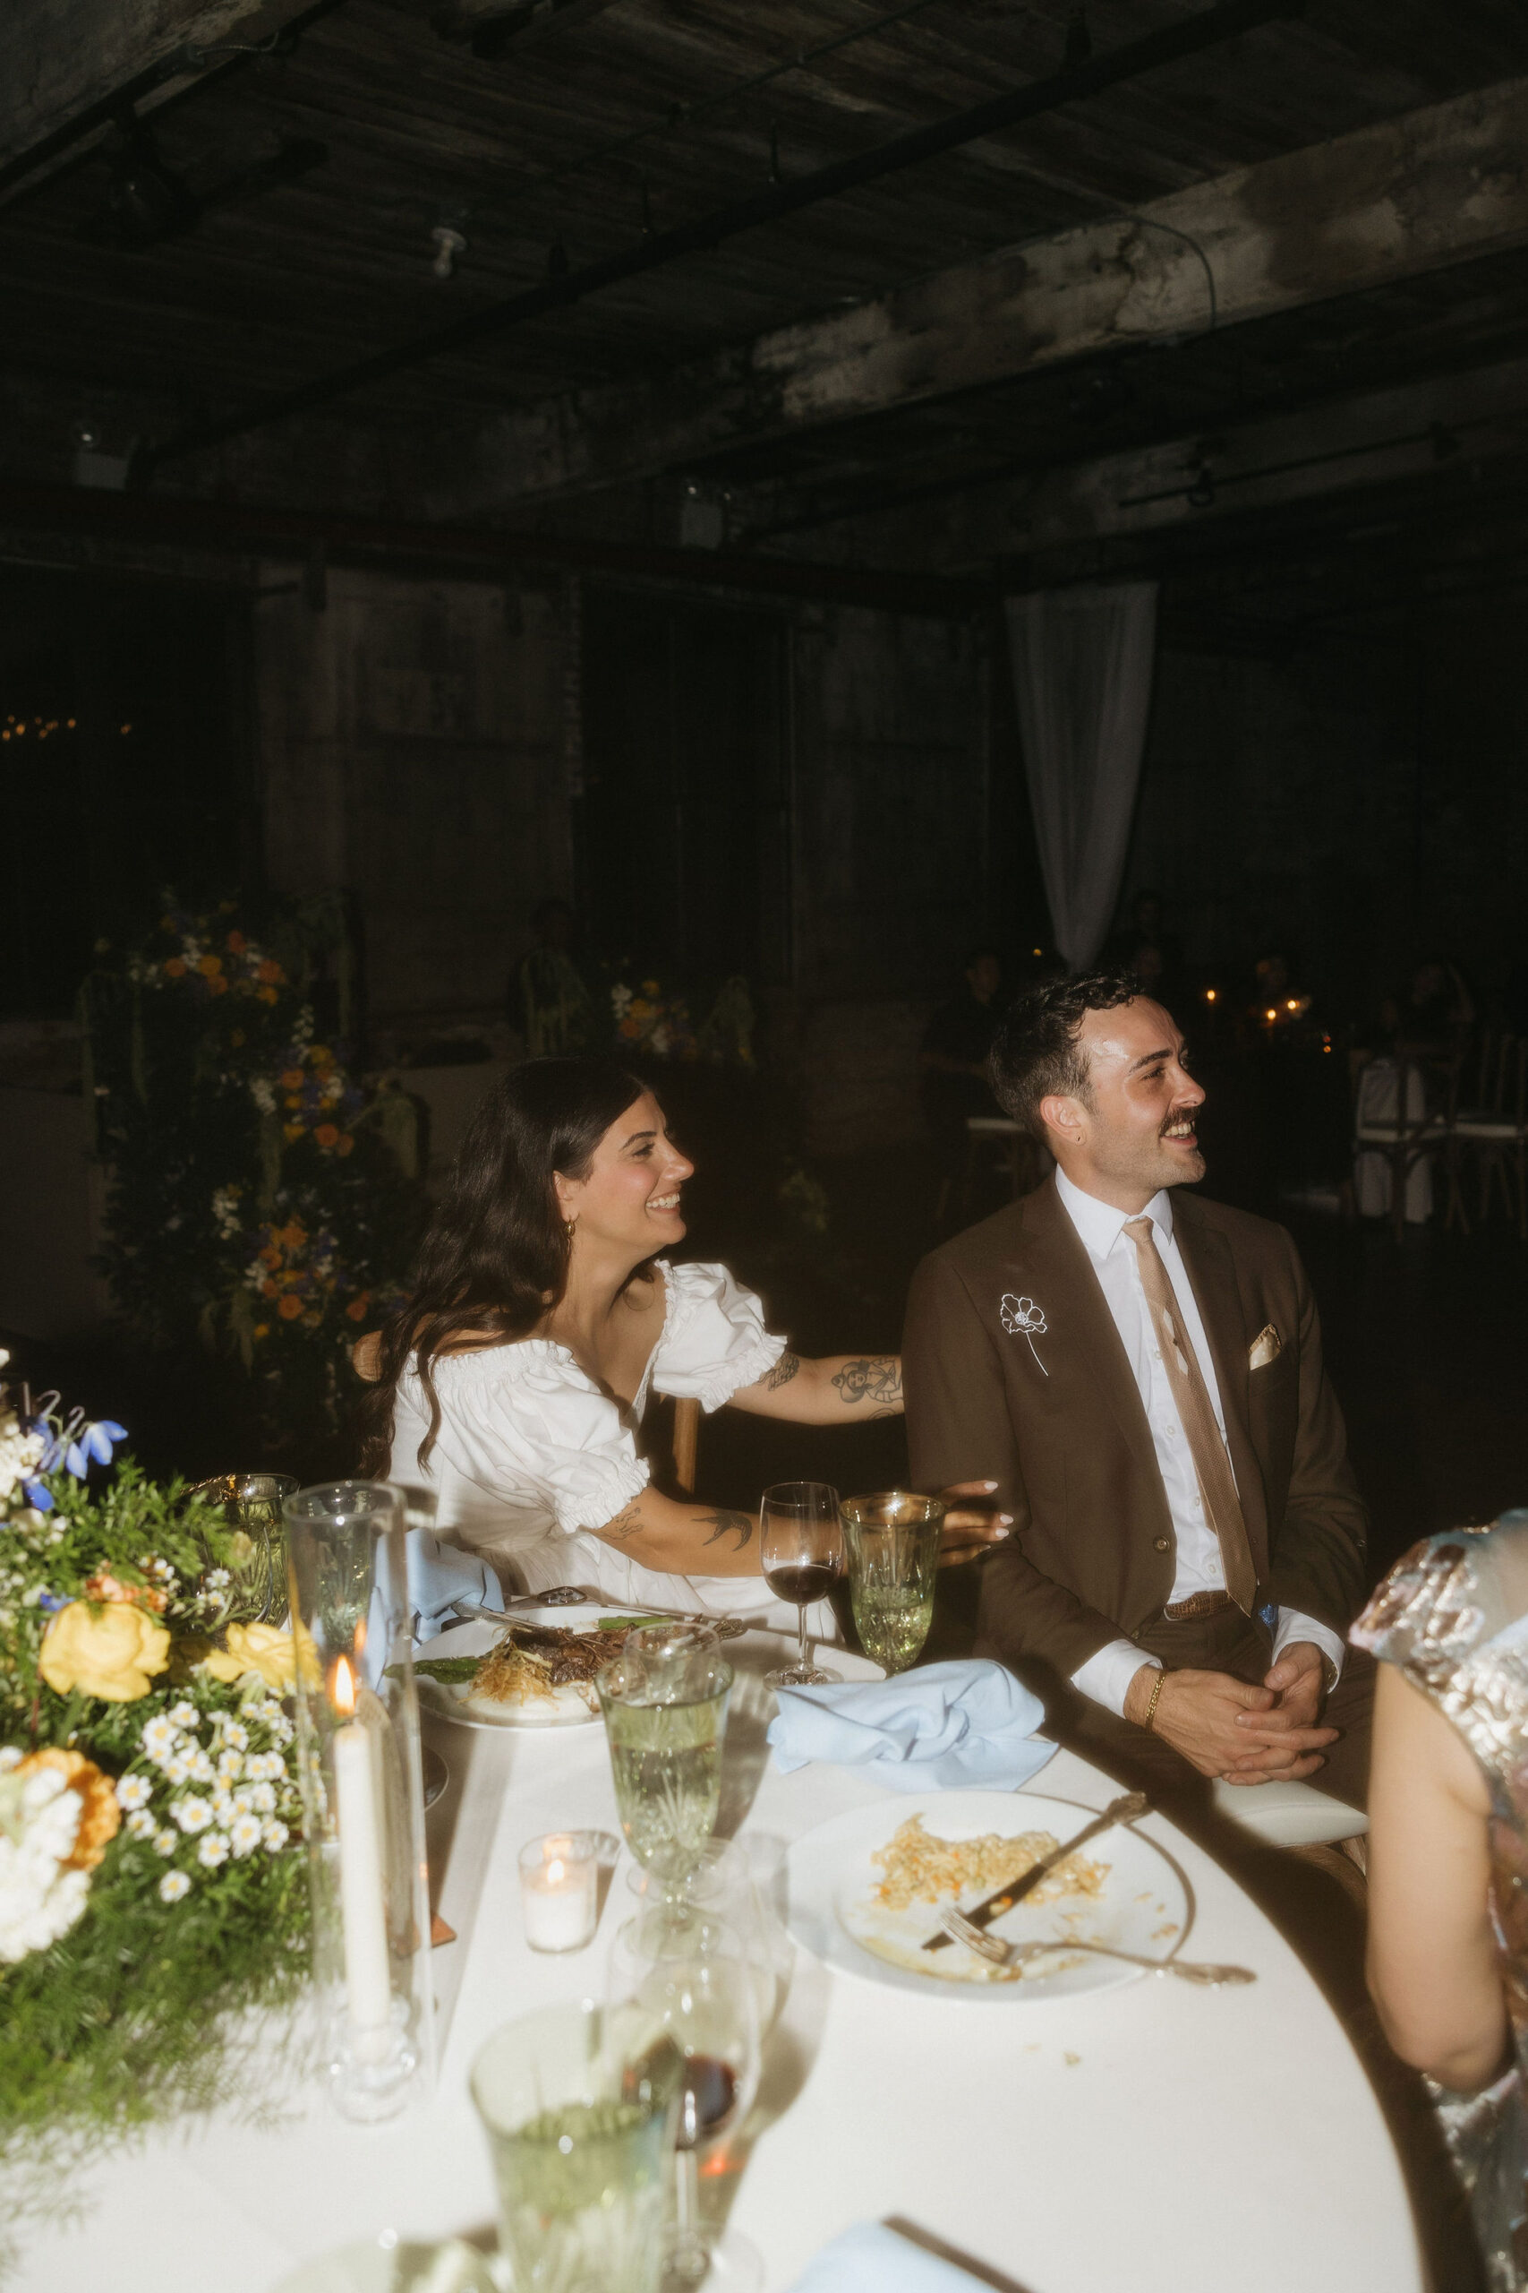
<svg viewBox="0 0 1528 2293">
<path fill-rule="evenodd" d="M 1157 651 L 1157 582 L 1008 598 L 1029 803 L 1056 947 L 1097 958 L 1125 874 Z"/>
</svg>

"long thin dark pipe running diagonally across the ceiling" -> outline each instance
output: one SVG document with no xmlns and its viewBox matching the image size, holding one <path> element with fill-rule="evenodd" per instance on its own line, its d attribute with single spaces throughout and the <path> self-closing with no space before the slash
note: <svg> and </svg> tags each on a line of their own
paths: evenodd
<svg viewBox="0 0 1528 2293">
<path fill-rule="evenodd" d="M 1255 32 L 1260 25 L 1287 16 L 1299 16 L 1301 11 L 1303 0 L 1219 0 L 1214 7 L 1164 25 L 1159 32 L 1148 32 L 1143 39 L 1127 41 L 1120 48 L 1111 48 L 1106 55 L 1072 64 L 1047 80 L 1031 80 L 1029 87 L 1013 87 L 1001 96 L 990 96 L 985 103 L 974 103 L 948 119 L 896 135 L 891 142 L 877 144 L 873 151 L 861 151 L 857 158 L 818 167 L 795 183 L 767 183 L 747 199 L 735 199 L 731 206 L 699 216 L 694 222 L 680 222 L 669 232 L 644 236 L 635 245 L 586 264 L 582 271 L 550 275 L 538 287 L 527 287 L 504 303 L 472 312 L 454 326 L 415 335 L 410 342 L 376 351 L 371 358 L 360 358 L 334 374 L 321 374 L 312 383 L 300 383 L 296 390 L 273 392 L 266 399 L 236 408 L 218 422 L 192 422 L 163 445 L 144 447 L 135 475 L 149 477 L 167 461 L 181 461 L 202 447 L 222 445 L 227 438 L 243 438 L 247 431 L 266 429 L 270 422 L 309 413 L 314 406 L 328 406 L 332 399 L 387 381 L 408 367 L 419 367 L 431 358 L 447 358 L 454 351 L 465 351 L 495 335 L 504 335 L 515 326 L 543 316 L 543 312 L 582 303 L 584 296 L 598 294 L 602 287 L 639 277 L 646 271 L 660 271 L 685 255 L 710 252 L 724 238 L 738 236 L 738 232 L 781 222 L 786 216 L 797 216 L 822 199 L 836 199 L 845 190 L 861 190 L 866 183 L 919 167 L 923 161 L 955 151 L 980 135 L 994 135 L 1019 126 L 1024 119 L 1038 119 L 1042 112 L 1079 103 L 1106 87 L 1118 87 L 1125 80 L 1141 78 L 1145 71 L 1157 71 L 1161 64 L 1200 55 L 1205 48 L 1216 48 L 1228 39 Z"/>
</svg>

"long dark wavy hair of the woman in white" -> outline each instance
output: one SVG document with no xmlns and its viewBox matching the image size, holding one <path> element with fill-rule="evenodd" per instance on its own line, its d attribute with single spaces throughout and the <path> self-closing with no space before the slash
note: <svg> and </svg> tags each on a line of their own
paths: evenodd
<svg viewBox="0 0 1528 2293">
<path fill-rule="evenodd" d="M 376 1383 L 357 1410 L 360 1470 L 387 1472 L 399 1378 L 412 1360 L 440 1433 L 433 1367 L 463 1337 L 529 1337 L 568 1286 L 570 1241 L 554 1174 L 586 1179 L 593 1149 L 646 1082 L 614 1059 L 529 1059 L 481 1103 L 431 1218 L 415 1284 L 380 1330 Z M 637 1268 L 651 1279 L 651 1268 Z"/>
</svg>

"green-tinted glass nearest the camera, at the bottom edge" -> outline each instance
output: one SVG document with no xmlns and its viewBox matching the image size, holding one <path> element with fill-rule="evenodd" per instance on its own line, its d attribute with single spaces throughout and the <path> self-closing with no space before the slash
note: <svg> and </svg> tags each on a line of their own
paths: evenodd
<svg viewBox="0 0 1528 2293">
<path fill-rule="evenodd" d="M 518 2288 L 657 2293 L 685 2057 L 635 2009 L 545 2006 L 472 2064 Z"/>
</svg>

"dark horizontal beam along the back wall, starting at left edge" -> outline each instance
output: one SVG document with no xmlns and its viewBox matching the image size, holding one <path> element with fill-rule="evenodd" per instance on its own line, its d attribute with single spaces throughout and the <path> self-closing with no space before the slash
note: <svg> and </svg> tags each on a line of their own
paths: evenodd
<svg viewBox="0 0 1528 2293">
<path fill-rule="evenodd" d="M 108 541 L 243 550 L 337 562 L 405 562 L 504 580 L 513 566 L 566 566 L 575 573 L 641 576 L 740 589 L 754 596 L 827 598 L 884 612 L 964 619 L 992 603 L 990 582 L 944 580 L 919 571 L 875 571 L 790 557 L 733 557 L 726 550 L 648 548 L 568 534 L 506 534 L 483 525 L 410 525 L 396 518 L 330 516 L 259 502 L 202 502 L 190 495 L 96 493 L 85 486 L 0 484 L 2 534 L 82 532 Z M 0 541 L 0 557 L 7 555 Z"/>
</svg>

